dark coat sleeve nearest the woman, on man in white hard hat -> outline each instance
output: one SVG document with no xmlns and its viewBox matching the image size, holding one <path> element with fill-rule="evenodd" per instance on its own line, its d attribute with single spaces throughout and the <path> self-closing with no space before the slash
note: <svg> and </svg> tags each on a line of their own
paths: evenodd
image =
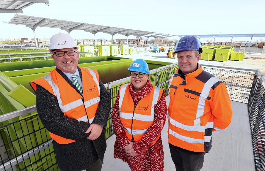
<svg viewBox="0 0 265 171">
<path fill-rule="evenodd" d="M 106 90 L 104 84 L 99 80 L 100 95 L 98 109 L 92 124 L 99 124 L 106 129 L 109 111 L 111 107 L 110 93 Z"/>
</svg>

